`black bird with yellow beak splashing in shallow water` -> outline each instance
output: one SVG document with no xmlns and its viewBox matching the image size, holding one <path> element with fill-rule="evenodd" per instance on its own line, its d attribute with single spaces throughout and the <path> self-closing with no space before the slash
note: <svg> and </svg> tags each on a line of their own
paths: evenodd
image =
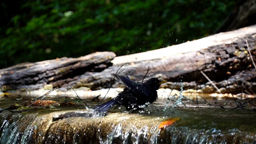
<svg viewBox="0 0 256 144">
<path fill-rule="evenodd" d="M 158 90 L 160 84 L 167 82 L 165 80 L 160 81 L 158 78 L 150 78 L 145 82 L 136 83 L 128 77 L 119 76 L 117 74 L 114 75 L 124 82 L 126 88 L 124 88 L 124 91 L 120 92 L 116 98 L 99 106 L 95 106 L 95 110 L 107 111 L 114 105 L 123 105 L 127 110 L 140 110 L 147 102 L 153 103 L 156 101 L 156 98 L 158 98 L 156 90 Z"/>
</svg>

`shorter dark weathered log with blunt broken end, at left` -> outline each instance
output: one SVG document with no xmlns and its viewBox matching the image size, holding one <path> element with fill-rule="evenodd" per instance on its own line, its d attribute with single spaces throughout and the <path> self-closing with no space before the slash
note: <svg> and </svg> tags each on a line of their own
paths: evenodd
<svg viewBox="0 0 256 144">
<path fill-rule="evenodd" d="M 56 58 L 35 63 L 22 63 L 0 70 L 0 88 L 6 90 L 34 90 L 46 84 L 68 80 L 84 72 L 100 72 L 112 65 L 113 52 L 96 52 L 79 58 Z"/>
</svg>

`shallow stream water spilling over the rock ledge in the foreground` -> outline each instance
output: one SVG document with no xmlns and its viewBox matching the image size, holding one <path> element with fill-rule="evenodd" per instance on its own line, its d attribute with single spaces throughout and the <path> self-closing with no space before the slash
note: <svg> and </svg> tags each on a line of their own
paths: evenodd
<svg viewBox="0 0 256 144">
<path fill-rule="evenodd" d="M 88 102 L 89 106 L 96 105 Z M 21 104 L 15 99 L 2 97 L 0 109 L 15 103 Z M 197 108 L 193 104 L 179 101 L 180 107 L 177 107 L 175 102 L 158 100 L 140 112 L 112 108 L 107 114 L 98 114 L 82 103 L 24 112 L 4 110 L 0 113 L 0 144 L 256 143 L 255 111 L 232 110 L 235 107 L 232 105 L 223 109 L 204 103 Z M 180 120 L 158 128 L 168 118 Z"/>
</svg>

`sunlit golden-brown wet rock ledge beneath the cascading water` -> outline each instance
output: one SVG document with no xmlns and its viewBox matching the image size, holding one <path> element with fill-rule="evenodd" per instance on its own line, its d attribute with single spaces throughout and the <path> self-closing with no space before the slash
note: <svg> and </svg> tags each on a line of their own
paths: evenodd
<svg viewBox="0 0 256 144">
<path fill-rule="evenodd" d="M 0 137 L 10 136 L 9 138 L 15 143 L 25 141 L 29 143 L 123 142 L 124 139 L 139 132 L 145 132 L 146 135 L 143 134 L 138 140 L 148 142 L 151 133 L 165 120 L 165 118 L 128 113 L 109 113 L 102 117 L 101 114 L 93 110 L 54 110 L 52 112 L 38 110 L 33 114 L 16 114 L 10 118 L 8 115 L 8 112 L 4 112 L 1 118 L 8 120 L 8 123 L 3 124 L 5 128 L 9 128 L 10 133 L 6 132 L 7 129 L 5 131 L 0 129 L 0 134 L 4 132 Z M 15 127 L 10 127 L 12 124 Z M 122 134 L 119 135 L 118 131 Z M 126 138 L 124 133 L 128 135 Z M 12 136 L 18 136 L 20 139 L 15 139 Z M 118 136 L 121 137 L 118 138 Z M 111 139 L 108 140 L 108 138 Z M 4 141 L 0 140 L 0 142 Z"/>
</svg>

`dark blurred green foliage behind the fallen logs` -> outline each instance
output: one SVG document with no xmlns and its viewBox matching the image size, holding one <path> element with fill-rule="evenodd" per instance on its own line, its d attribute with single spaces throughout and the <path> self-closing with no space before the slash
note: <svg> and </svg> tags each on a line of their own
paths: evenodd
<svg viewBox="0 0 256 144">
<path fill-rule="evenodd" d="M 229 0 L 3 0 L 0 68 L 180 44 L 212 34 L 234 5 Z"/>
</svg>

